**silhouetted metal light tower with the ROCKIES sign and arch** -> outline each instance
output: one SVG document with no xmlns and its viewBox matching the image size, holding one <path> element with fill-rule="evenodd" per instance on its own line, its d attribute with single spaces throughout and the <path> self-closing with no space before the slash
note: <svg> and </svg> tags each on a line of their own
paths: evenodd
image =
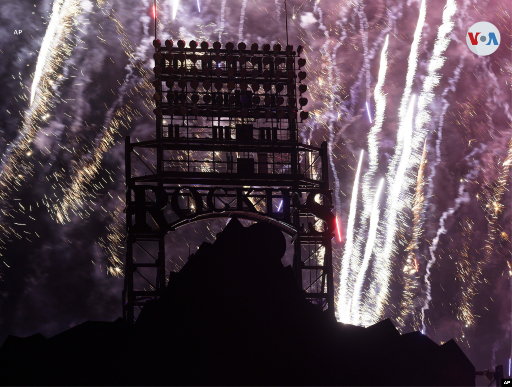
<svg viewBox="0 0 512 387">
<path fill-rule="evenodd" d="M 291 235 L 298 284 L 334 319 L 327 144 L 298 136 L 309 117 L 303 48 L 157 39 L 154 46 L 156 136 L 125 143 L 124 319 L 133 324 L 145 302 L 162 295 L 167 233 L 231 217 Z"/>
</svg>

